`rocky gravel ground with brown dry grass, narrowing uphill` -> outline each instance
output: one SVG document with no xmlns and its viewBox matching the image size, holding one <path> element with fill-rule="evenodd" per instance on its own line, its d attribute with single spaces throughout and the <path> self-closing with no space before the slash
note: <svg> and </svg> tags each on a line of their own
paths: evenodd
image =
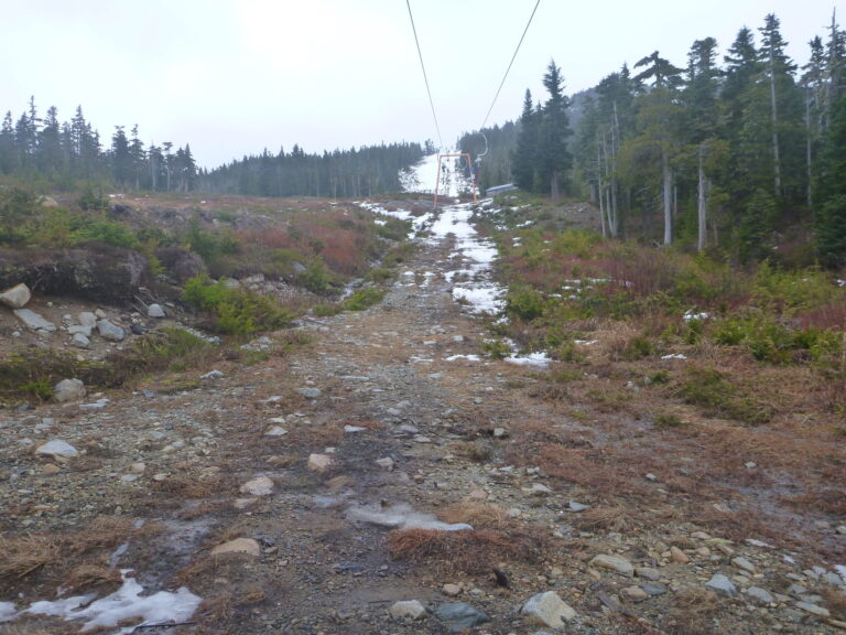
<svg viewBox="0 0 846 635">
<path fill-rule="evenodd" d="M 188 390 L 0 413 L 0 633 L 77 632 L 18 612 L 107 595 L 121 570 L 202 600 L 138 633 L 846 631 L 845 519 L 781 517 L 795 539 L 776 541 L 742 474 L 704 503 L 671 482 L 711 460 L 695 442 L 575 418 L 539 398 L 549 370 L 473 357 L 486 330 L 451 252 L 421 245 L 380 305 Z M 625 459 L 589 473 L 586 453 Z"/>
</svg>

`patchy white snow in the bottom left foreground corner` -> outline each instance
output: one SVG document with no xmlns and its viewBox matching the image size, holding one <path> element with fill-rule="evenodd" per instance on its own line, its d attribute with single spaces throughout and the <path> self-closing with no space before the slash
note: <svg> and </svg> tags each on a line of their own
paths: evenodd
<svg viewBox="0 0 846 635">
<path fill-rule="evenodd" d="M 129 570 L 121 571 L 123 585 L 111 595 L 91 602 L 95 595 L 77 595 L 53 602 L 34 602 L 21 613 L 13 613 L 14 605 L 0 602 L 0 622 L 30 613 L 33 615 L 54 615 L 67 621 L 86 620 L 82 633 L 100 627 L 112 627 L 128 620 L 140 620 L 135 626 L 121 628 L 117 635 L 134 633 L 138 626 L 185 622 L 199 606 L 200 598 L 186 588 L 175 593 L 159 591 L 142 596 L 144 589 L 134 578 L 128 578 Z"/>
</svg>

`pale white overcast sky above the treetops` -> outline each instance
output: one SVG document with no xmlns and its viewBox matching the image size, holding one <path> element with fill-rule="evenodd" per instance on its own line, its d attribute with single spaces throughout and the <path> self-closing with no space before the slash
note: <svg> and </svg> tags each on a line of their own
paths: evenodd
<svg viewBox="0 0 846 635">
<path fill-rule="evenodd" d="M 412 0 L 445 144 L 481 126 L 535 0 Z M 684 66 L 694 40 L 720 53 L 767 13 L 807 60 L 846 0 L 541 0 L 490 117 L 543 97 L 551 58 L 567 93 L 659 50 Z M 846 19 L 844 19 L 846 21 Z M 405 0 L 3 0 L 0 109 L 35 96 L 62 121 L 77 105 L 109 142 L 191 143 L 204 166 L 299 143 L 308 152 L 392 141 L 437 144 Z"/>
</svg>

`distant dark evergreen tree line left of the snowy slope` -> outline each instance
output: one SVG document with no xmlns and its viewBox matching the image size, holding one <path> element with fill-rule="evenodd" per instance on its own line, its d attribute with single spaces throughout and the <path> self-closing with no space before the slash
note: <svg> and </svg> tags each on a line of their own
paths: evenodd
<svg viewBox="0 0 846 635">
<path fill-rule="evenodd" d="M 427 144 L 426 151 L 433 151 Z M 230 193 L 258 196 L 369 196 L 400 191 L 399 173 L 419 161 L 419 143 L 391 143 L 308 154 L 300 146 L 285 153 L 243 157 L 214 170 L 197 168 L 188 143 L 145 146 L 138 125 L 116 126 L 108 144 L 85 119 L 82 106 L 61 122 L 55 106 L 42 117 L 30 99 L 15 120 L 0 126 L 0 174 L 46 182 L 59 190 L 82 183 L 123 190 Z"/>
</svg>

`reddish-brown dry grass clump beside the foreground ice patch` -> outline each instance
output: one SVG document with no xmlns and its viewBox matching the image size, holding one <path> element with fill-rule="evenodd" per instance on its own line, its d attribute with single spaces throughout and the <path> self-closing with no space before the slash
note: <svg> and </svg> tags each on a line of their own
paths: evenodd
<svg viewBox="0 0 846 635">
<path fill-rule="evenodd" d="M 543 547 L 540 534 L 529 531 L 391 531 L 388 551 L 395 560 L 430 564 L 442 571 L 490 572 L 500 562 L 535 562 Z"/>
</svg>

